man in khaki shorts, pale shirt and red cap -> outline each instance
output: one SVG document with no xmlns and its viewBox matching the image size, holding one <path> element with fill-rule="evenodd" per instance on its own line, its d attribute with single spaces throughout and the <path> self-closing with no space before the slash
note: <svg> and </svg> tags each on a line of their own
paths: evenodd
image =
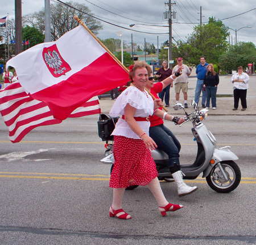
<svg viewBox="0 0 256 245">
<path fill-rule="evenodd" d="M 172 74 L 177 72 L 180 69 L 181 76 L 177 77 L 174 80 L 175 93 L 176 93 L 176 103 L 179 103 L 180 99 L 180 90 L 184 95 L 184 106 L 188 108 L 188 76 L 191 74 L 191 71 L 187 67 L 187 65 L 183 64 L 183 59 L 181 57 L 177 58 L 177 65 L 175 65 L 174 69 L 172 69 Z"/>
</svg>

